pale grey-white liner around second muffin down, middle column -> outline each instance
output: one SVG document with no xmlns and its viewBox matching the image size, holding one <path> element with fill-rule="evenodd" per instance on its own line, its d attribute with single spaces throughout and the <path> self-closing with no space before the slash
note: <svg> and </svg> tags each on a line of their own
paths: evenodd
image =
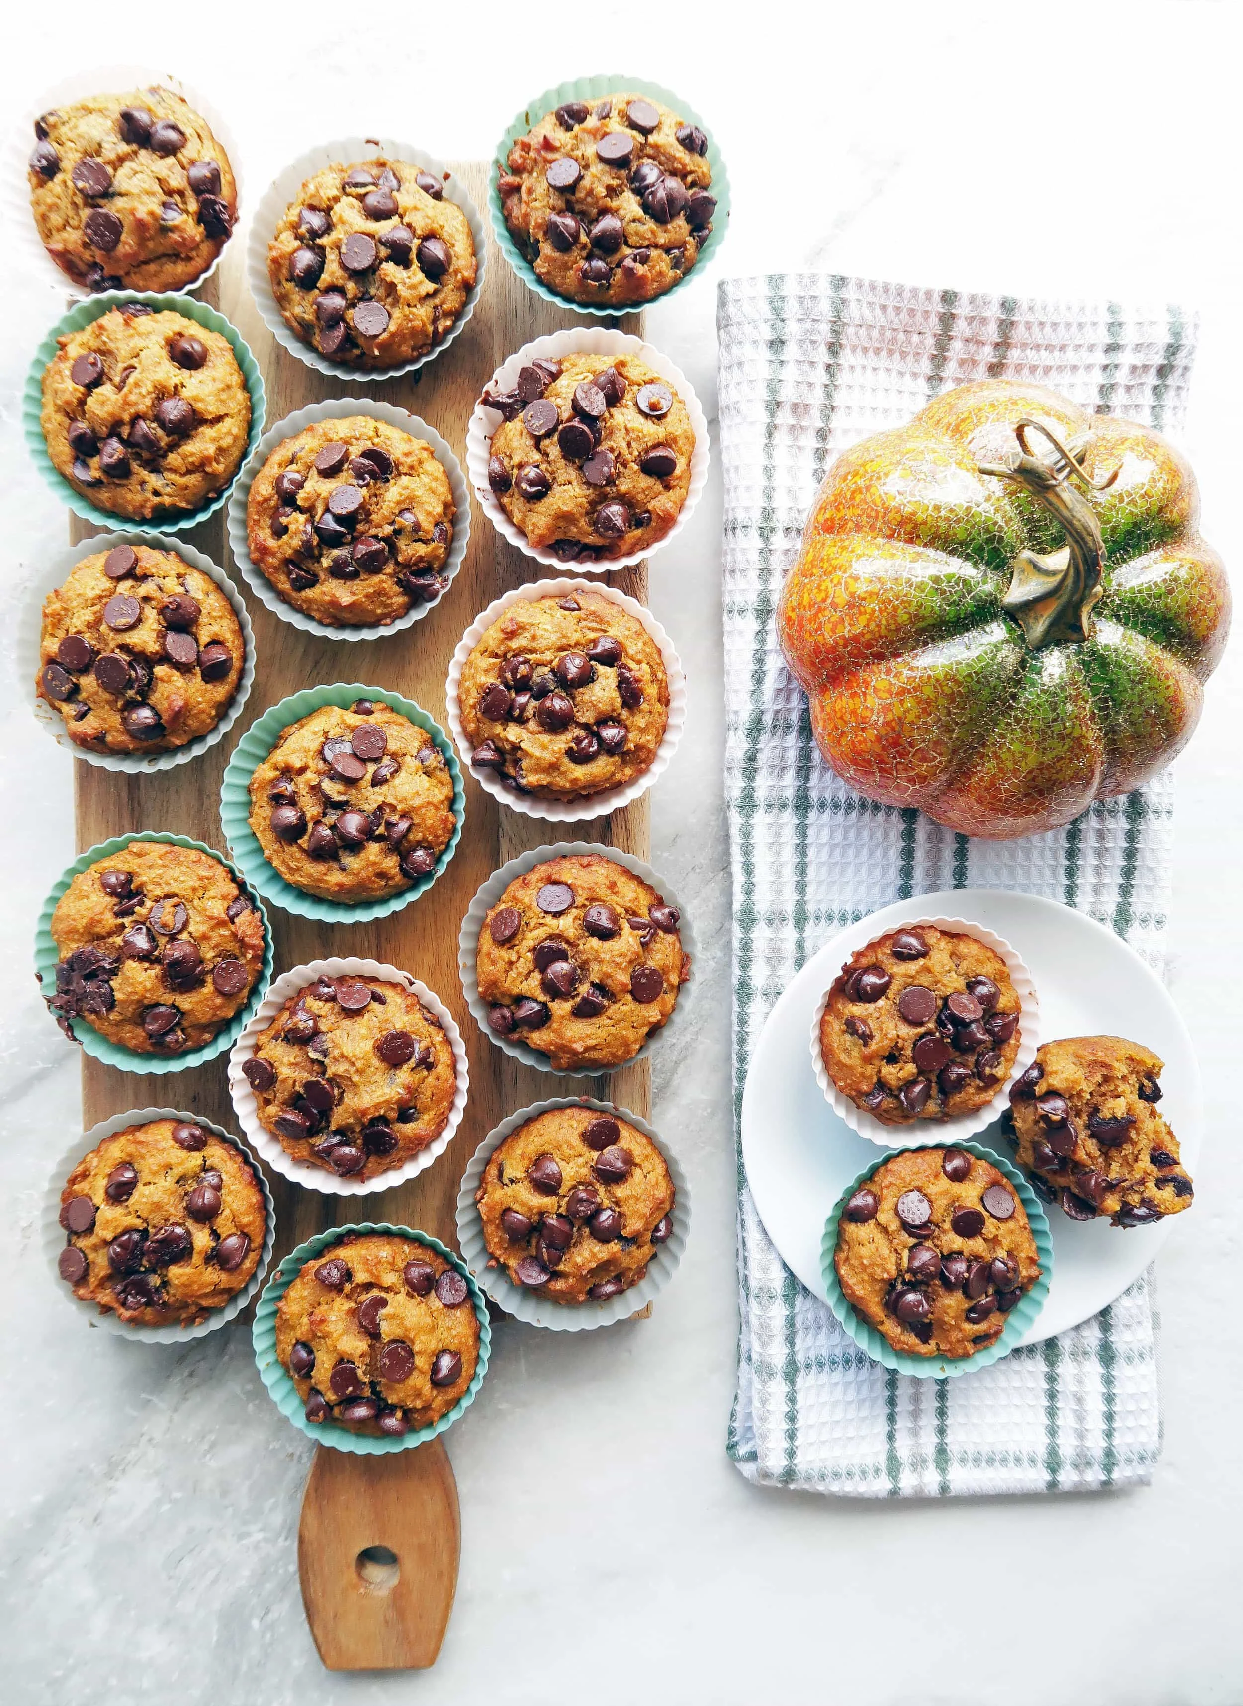
<svg viewBox="0 0 1243 1706">
<path fill-rule="evenodd" d="M 398 616 L 396 621 L 388 624 L 360 623 L 357 626 L 333 628 L 328 623 L 318 623 L 314 616 L 307 616 L 306 611 L 299 611 L 282 599 L 263 570 L 251 563 L 246 537 L 246 505 L 249 503 L 251 486 L 277 445 L 283 444 L 287 438 L 295 438 L 301 432 L 306 432 L 307 426 L 314 426 L 316 421 L 347 420 L 350 415 L 369 415 L 371 420 L 386 421 L 389 426 L 396 426 L 398 432 L 405 432 L 411 438 L 422 438 L 449 476 L 449 490 L 452 491 L 452 502 L 458 512 L 452 520 L 449 556 L 441 570 L 441 575 L 446 577 L 444 592 L 449 590 L 452 577 L 463 565 L 471 536 L 471 500 L 466 486 L 466 476 L 461 471 L 461 462 L 452 454 L 451 445 L 446 444 L 441 433 L 434 426 L 429 426 L 427 421 L 422 421 L 417 415 L 410 415 L 408 409 L 398 409 L 391 403 L 377 403 L 372 397 L 333 397 L 328 403 L 311 403 L 304 409 L 295 409 L 294 415 L 287 415 L 282 421 L 277 421 L 275 426 L 268 426 L 260 442 L 254 445 L 254 454 L 242 464 L 234 488 L 229 493 L 229 508 L 225 512 L 229 524 L 229 549 L 232 551 L 232 560 L 237 565 L 242 580 L 251 589 L 254 597 L 261 604 L 266 604 L 271 614 L 280 616 L 282 621 L 292 623 L 294 628 L 301 628 L 304 633 L 319 635 L 321 640 L 384 640 L 388 635 L 401 633 L 403 628 L 410 628 L 413 623 L 422 621 L 429 611 L 435 609 L 444 597 L 444 592 L 427 604 L 411 604 L 405 616 Z"/>
</svg>

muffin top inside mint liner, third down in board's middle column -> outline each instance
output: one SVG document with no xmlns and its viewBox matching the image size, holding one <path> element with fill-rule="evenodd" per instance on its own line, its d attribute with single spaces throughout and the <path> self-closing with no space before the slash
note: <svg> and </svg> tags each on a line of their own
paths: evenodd
<svg viewBox="0 0 1243 1706">
<path fill-rule="evenodd" d="M 324 901 L 408 889 L 435 870 L 454 831 L 449 766 L 381 699 L 324 705 L 282 728 L 249 786 L 263 856 Z"/>
</svg>

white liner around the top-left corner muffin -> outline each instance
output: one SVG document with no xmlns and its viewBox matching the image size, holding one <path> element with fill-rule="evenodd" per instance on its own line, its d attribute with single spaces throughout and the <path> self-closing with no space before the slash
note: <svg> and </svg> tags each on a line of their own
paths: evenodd
<svg viewBox="0 0 1243 1706">
<path fill-rule="evenodd" d="M 70 297 L 73 302 L 84 300 L 85 297 L 94 295 L 94 292 L 87 290 L 85 285 L 80 285 L 68 273 L 63 273 L 43 247 L 39 239 L 39 232 L 34 223 L 34 212 L 31 208 L 31 186 L 27 181 L 27 164 L 36 140 L 34 121 L 41 113 L 50 113 L 56 106 L 72 106 L 75 101 L 87 101 L 90 96 L 125 94 L 130 89 L 152 89 L 157 85 L 160 89 L 167 89 L 174 96 L 181 96 L 181 99 L 207 121 L 208 130 L 229 157 L 234 184 L 237 186 L 237 218 L 234 222 L 232 235 L 225 241 L 217 258 L 198 275 L 198 278 L 191 280 L 188 285 L 179 285 L 176 290 L 166 290 L 162 295 L 186 295 L 190 290 L 198 290 L 198 287 L 207 283 L 220 261 L 225 258 L 229 244 L 237 241 L 237 227 L 242 222 L 241 154 L 232 130 L 220 118 L 219 109 L 210 101 L 205 101 L 195 89 L 183 84 L 179 77 L 172 77 L 167 72 L 154 72 L 150 67 L 108 65 L 97 72 L 73 72 L 70 77 L 63 77 L 51 87 L 44 89 L 39 99 L 31 102 L 12 126 L 3 150 L 3 188 L 0 189 L 0 215 L 5 220 L 10 237 L 15 235 L 22 249 L 19 270 L 22 273 L 29 271 L 32 276 L 53 285 L 61 297 Z"/>
</svg>

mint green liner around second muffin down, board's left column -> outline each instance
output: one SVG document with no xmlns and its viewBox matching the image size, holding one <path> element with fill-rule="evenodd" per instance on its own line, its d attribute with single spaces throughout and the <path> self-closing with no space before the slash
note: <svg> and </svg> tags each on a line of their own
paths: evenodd
<svg viewBox="0 0 1243 1706">
<path fill-rule="evenodd" d="M 159 314 L 167 309 L 172 314 L 183 314 L 186 319 L 196 321 L 208 331 L 220 333 L 222 338 L 229 339 L 232 353 L 237 357 L 237 365 L 242 370 L 242 379 L 246 380 L 246 389 L 251 394 L 251 430 L 246 435 L 246 449 L 237 462 L 237 473 L 234 473 L 229 485 L 217 493 L 217 496 L 205 503 L 198 510 L 191 510 L 188 515 L 172 515 L 164 520 L 126 520 L 125 515 L 118 515 L 116 510 L 101 510 L 84 498 L 77 488 L 70 486 L 63 474 L 60 474 L 48 456 L 48 445 L 43 438 L 43 426 L 39 425 L 39 415 L 43 413 L 43 374 L 51 358 L 56 355 L 56 339 L 63 338 L 67 333 L 82 331 L 90 321 L 99 319 L 109 309 L 120 307 L 123 302 L 145 302 L 147 307 Z M 254 450 L 254 445 L 263 437 L 263 418 L 266 411 L 266 392 L 263 389 L 263 374 L 260 365 L 249 351 L 246 339 L 237 331 L 237 328 L 210 309 L 205 302 L 196 302 L 193 297 L 178 295 L 157 295 L 150 290 L 104 290 L 97 297 L 87 297 L 84 302 L 77 302 L 68 314 L 56 321 L 48 336 L 43 339 L 39 348 L 34 351 L 34 360 L 31 362 L 31 370 L 26 375 L 26 386 L 22 389 L 22 435 L 26 437 L 26 445 L 34 457 L 34 466 L 43 474 L 48 488 L 60 498 L 61 503 L 68 505 L 75 515 L 80 515 L 85 522 L 94 522 L 97 527 L 106 527 L 109 532 L 118 527 L 140 527 L 145 532 L 181 532 L 186 527 L 198 527 L 205 522 L 208 515 L 215 515 L 222 510 L 229 493 L 232 491 L 237 474 L 242 471 L 246 462 Z"/>
</svg>

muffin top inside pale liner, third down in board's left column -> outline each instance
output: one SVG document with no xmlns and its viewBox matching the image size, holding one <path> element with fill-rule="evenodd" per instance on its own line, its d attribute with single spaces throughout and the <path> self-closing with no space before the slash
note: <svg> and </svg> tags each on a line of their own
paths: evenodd
<svg viewBox="0 0 1243 1706">
<path fill-rule="evenodd" d="M 234 607 L 176 551 L 84 556 L 43 602 L 36 691 L 77 746 L 169 752 L 224 717 L 246 662 Z"/>
</svg>

